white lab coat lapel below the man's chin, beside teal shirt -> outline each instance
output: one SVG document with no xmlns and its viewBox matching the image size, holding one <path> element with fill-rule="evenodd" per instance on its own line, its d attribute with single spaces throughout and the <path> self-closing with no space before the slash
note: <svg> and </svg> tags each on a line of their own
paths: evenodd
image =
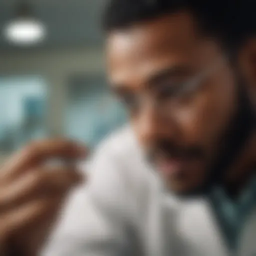
<svg viewBox="0 0 256 256">
<path fill-rule="evenodd" d="M 188 256 L 229 255 L 211 207 L 205 199 L 181 203 L 177 228 Z"/>
</svg>

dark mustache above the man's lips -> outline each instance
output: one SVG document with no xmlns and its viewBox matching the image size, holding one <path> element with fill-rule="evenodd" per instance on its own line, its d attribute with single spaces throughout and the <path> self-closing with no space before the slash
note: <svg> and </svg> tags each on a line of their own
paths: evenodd
<svg viewBox="0 0 256 256">
<path fill-rule="evenodd" d="M 157 155 L 167 158 L 204 158 L 204 151 L 199 146 L 181 147 L 172 141 L 158 140 L 147 149 L 149 160 L 153 160 Z"/>
</svg>

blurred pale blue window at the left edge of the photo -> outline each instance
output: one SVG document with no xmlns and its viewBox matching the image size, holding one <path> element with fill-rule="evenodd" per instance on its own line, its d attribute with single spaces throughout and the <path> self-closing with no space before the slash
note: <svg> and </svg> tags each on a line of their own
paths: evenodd
<svg viewBox="0 0 256 256">
<path fill-rule="evenodd" d="M 0 77 L 0 151 L 11 152 L 46 133 L 47 91 L 40 76 Z"/>
</svg>

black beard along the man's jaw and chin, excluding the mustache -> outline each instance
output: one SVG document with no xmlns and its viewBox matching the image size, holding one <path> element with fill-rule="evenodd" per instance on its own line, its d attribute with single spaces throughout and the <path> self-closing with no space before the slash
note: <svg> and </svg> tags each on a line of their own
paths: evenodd
<svg viewBox="0 0 256 256">
<path fill-rule="evenodd" d="M 255 130 L 255 111 L 245 85 L 240 82 L 236 85 L 237 105 L 233 117 L 219 138 L 213 164 L 208 166 L 208 176 L 202 186 L 181 196 L 201 196 L 211 192 L 215 186 L 223 185 L 229 168 L 245 148 Z"/>
</svg>

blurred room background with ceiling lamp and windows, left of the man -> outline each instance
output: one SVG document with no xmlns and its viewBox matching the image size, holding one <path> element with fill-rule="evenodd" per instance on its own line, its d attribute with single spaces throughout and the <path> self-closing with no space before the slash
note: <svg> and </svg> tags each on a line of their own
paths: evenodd
<svg viewBox="0 0 256 256">
<path fill-rule="evenodd" d="M 0 0 L 0 162 L 31 139 L 94 147 L 125 122 L 104 74 L 105 0 Z"/>
</svg>

